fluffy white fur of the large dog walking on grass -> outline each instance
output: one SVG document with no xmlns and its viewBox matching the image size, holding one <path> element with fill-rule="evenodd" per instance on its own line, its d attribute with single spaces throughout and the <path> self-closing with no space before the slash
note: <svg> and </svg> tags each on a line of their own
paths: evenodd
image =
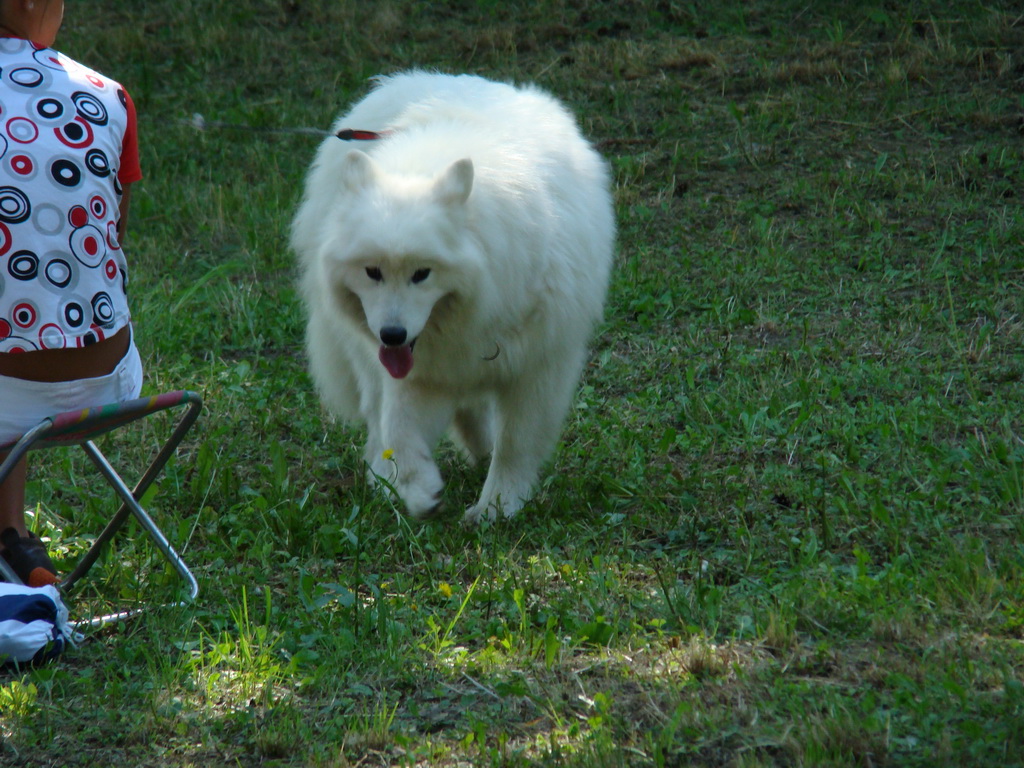
<svg viewBox="0 0 1024 768">
<path fill-rule="evenodd" d="M 439 503 L 432 453 L 452 427 L 471 460 L 490 457 L 466 519 L 511 517 L 558 440 L 601 317 L 606 165 L 550 95 L 468 75 L 380 78 L 343 128 L 387 133 L 327 138 L 293 223 L 316 387 L 329 411 L 367 425 L 371 477 L 411 514 Z M 415 350 L 382 349 L 382 331 L 404 331 Z M 406 359 L 400 376 L 409 351 L 412 370 L 393 378 L 383 360 Z"/>
</svg>

